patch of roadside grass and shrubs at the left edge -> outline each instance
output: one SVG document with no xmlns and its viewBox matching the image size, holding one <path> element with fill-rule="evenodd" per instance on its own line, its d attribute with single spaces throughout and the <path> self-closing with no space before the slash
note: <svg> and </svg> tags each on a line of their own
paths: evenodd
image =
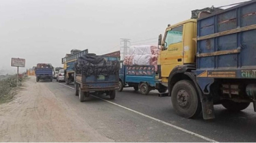
<svg viewBox="0 0 256 143">
<path fill-rule="evenodd" d="M 18 86 L 21 86 L 21 82 L 25 81 L 26 79 L 27 77 L 19 78 Z M 18 91 L 16 86 L 16 76 L 9 76 L 8 78 L 0 80 L 0 104 L 12 100 Z"/>
</svg>

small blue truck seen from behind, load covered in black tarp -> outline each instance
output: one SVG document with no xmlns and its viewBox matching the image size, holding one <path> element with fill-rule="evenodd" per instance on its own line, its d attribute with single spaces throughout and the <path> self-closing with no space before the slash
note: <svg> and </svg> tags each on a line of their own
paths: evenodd
<svg viewBox="0 0 256 143">
<path fill-rule="evenodd" d="M 106 59 L 110 60 L 107 61 Z M 119 79 L 119 61 L 115 58 L 85 54 L 77 59 L 75 65 L 75 95 L 85 101 L 90 93 L 97 93 L 116 97 Z"/>
</svg>

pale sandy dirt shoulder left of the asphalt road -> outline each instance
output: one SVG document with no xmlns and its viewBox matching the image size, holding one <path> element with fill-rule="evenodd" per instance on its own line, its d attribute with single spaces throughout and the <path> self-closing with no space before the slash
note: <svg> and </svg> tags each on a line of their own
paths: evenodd
<svg viewBox="0 0 256 143">
<path fill-rule="evenodd" d="M 114 142 L 86 123 L 34 76 L 0 104 L 0 142 Z"/>
</svg>

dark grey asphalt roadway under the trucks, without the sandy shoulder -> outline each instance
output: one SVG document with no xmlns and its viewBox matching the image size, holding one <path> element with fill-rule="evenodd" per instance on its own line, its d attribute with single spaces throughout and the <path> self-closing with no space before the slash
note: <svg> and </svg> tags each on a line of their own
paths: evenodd
<svg viewBox="0 0 256 143">
<path fill-rule="evenodd" d="M 242 112 L 230 112 L 221 105 L 214 106 L 216 119 L 205 121 L 202 115 L 193 119 L 177 116 L 172 109 L 170 97 L 158 97 L 157 91 L 151 91 L 150 95 L 141 95 L 139 91 L 127 88 L 117 93 L 114 100 L 101 95 L 90 97 L 84 103 L 79 103 L 79 98 L 73 94 L 73 84 L 66 85 L 57 82 L 45 84 L 54 93 L 63 93 L 56 95 L 65 99 L 67 104 L 71 106 L 76 104 L 79 108 L 83 108 L 85 111 L 82 114 L 87 114 L 88 108 L 92 109 L 94 112 L 92 126 L 98 127 L 98 121 L 102 123 L 105 121 L 106 128 L 99 130 L 116 141 L 256 141 L 256 113 L 253 111 L 252 104 Z M 112 119 L 114 121 L 111 121 Z"/>
</svg>

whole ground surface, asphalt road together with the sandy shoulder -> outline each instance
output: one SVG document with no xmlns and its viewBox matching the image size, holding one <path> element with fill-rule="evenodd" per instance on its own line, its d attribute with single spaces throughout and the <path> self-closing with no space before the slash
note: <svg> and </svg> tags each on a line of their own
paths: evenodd
<svg viewBox="0 0 256 143">
<path fill-rule="evenodd" d="M 1 142 L 256 142 L 252 105 L 242 112 L 215 106 L 216 119 L 182 118 L 170 97 L 131 88 L 110 100 L 80 102 L 73 84 L 31 77 L 14 101 L 0 105 Z"/>
</svg>

